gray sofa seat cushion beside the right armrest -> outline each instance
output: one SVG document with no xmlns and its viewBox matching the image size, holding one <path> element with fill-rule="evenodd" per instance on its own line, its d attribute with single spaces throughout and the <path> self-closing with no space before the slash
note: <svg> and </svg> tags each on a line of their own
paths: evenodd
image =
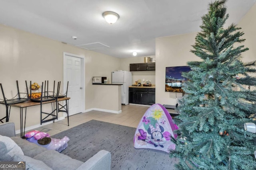
<svg viewBox="0 0 256 170">
<path fill-rule="evenodd" d="M 46 150 L 45 152 L 35 156 L 34 159 L 42 160 L 46 165 L 54 170 L 75 170 L 84 163 L 79 160 L 72 159 L 67 155 L 61 154 L 56 150 Z"/>
</svg>

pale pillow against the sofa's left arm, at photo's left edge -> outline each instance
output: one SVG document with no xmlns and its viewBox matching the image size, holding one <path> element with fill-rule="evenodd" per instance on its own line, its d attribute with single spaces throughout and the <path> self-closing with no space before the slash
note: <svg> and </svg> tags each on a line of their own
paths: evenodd
<svg viewBox="0 0 256 170">
<path fill-rule="evenodd" d="M 14 154 L 22 154 L 21 148 L 10 138 L 0 135 L 0 161 L 11 161 Z"/>
</svg>

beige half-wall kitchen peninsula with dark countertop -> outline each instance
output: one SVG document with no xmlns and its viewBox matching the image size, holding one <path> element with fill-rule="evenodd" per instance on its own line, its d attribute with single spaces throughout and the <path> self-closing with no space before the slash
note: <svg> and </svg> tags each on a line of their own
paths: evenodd
<svg viewBox="0 0 256 170">
<path fill-rule="evenodd" d="M 93 84 L 94 108 L 92 110 L 110 113 L 122 113 L 121 105 L 122 84 Z"/>
</svg>

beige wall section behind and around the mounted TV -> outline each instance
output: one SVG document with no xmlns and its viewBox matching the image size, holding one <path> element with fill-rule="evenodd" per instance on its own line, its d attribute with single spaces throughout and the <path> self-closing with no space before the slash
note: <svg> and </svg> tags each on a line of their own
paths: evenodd
<svg viewBox="0 0 256 170">
<path fill-rule="evenodd" d="M 196 61 L 190 52 L 195 43 L 196 33 L 156 38 L 156 103 L 176 105 L 176 96 L 181 93 L 165 92 L 165 68 L 185 66 L 188 61 Z"/>
</svg>

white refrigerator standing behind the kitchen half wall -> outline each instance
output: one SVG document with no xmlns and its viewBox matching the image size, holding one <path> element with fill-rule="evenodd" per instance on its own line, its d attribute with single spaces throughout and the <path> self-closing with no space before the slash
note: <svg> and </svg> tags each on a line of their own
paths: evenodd
<svg viewBox="0 0 256 170">
<path fill-rule="evenodd" d="M 121 103 L 129 104 L 129 86 L 132 86 L 132 73 L 129 71 L 112 71 L 112 84 L 121 86 Z"/>
</svg>

